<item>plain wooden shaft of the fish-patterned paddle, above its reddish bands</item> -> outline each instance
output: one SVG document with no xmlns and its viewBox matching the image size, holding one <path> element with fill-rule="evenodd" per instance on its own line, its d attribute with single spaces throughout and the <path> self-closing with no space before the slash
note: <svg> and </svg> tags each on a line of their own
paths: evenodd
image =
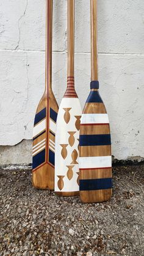
<svg viewBox="0 0 144 256">
<path fill-rule="evenodd" d="M 68 0 L 68 77 L 74 76 L 74 0 Z"/>
</svg>

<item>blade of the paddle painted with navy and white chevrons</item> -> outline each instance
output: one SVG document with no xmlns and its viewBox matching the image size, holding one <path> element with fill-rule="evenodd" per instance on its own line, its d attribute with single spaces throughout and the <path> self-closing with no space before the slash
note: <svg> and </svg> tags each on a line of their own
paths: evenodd
<svg viewBox="0 0 144 256">
<path fill-rule="evenodd" d="M 58 112 L 52 91 L 46 93 L 35 114 L 32 147 L 32 183 L 35 188 L 54 189 L 54 152 Z"/>
</svg>

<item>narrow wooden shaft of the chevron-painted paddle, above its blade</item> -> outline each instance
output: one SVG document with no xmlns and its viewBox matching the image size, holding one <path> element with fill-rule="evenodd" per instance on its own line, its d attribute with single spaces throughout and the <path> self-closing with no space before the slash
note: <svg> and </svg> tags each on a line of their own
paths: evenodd
<svg viewBox="0 0 144 256">
<path fill-rule="evenodd" d="M 45 92 L 51 89 L 52 79 L 52 0 L 46 0 L 46 82 Z"/>
</svg>

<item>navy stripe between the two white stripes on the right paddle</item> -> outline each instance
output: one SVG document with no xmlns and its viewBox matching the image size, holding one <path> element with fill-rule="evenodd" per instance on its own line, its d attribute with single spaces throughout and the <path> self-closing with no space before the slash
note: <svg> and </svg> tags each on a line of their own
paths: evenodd
<svg viewBox="0 0 144 256">
<path fill-rule="evenodd" d="M 88 134 L 79 136 L 80 146 L 103 146 L 110 144 L 110 134 Z"/>
</svg>

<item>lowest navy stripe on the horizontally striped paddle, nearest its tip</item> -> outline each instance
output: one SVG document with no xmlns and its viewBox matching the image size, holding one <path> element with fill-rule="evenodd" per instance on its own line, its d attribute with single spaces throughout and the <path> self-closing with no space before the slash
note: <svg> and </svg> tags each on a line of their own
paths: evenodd
<svg viewBox="0 0 144 256">
<path fill-rule="evenodd" d="M 95 180 L 79 180 L 79 190 L 89 191 L 112 188 L 112 178 L 98 178 Z"/>
</svg>

